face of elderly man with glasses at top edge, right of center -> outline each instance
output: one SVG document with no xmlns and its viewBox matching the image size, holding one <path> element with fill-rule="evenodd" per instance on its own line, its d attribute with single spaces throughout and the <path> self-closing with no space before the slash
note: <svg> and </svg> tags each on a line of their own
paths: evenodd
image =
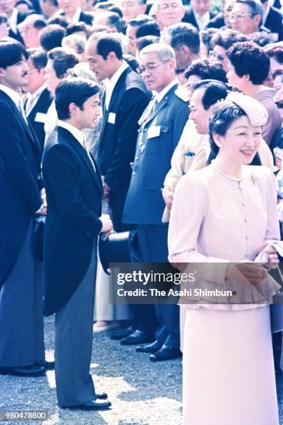
<svg viewBox="0 0 283 425">
<path fill-rule="evenodd" d="M 161 31 L 167 26 L 178 24 L 185 15 L 182 0 L 157 0 L 153 7 L 156 8 L 155 19 Z"/>
</svg>

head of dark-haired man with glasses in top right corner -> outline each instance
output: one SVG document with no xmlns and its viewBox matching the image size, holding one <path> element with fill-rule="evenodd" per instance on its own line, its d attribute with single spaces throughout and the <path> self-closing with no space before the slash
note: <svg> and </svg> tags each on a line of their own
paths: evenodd
<svg viewBox="0 0 283 425">
<path fill-rule="evenodd" d="M 259 0 L 237 0 L 230 14 L 231 28 L 249 35 L 260 30 L 264 8 Z"/>
</svg>

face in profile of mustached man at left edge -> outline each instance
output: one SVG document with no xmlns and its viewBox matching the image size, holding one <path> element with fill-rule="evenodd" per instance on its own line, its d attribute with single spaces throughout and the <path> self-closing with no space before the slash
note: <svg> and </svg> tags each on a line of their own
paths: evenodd
<svg viewBox="0 0 283 425">
<path fill-rule="evenodd" d="M 28 82 L 26 58 L 22 56 L 22 59 L 15 63 L 15 65 L 10 65 L 6 69 L 0 68 L 0 82 L 12 90 L 23 88 Z"/>
</svg>

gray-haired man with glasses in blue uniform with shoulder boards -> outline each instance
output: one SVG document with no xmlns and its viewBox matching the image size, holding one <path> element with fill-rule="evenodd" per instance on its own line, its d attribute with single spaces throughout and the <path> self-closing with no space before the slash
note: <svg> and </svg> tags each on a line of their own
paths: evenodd
<svg viewBox="0 0 283 425">
<path fill-rule="evenodd" d="M 144 262 L 168 263 L 168 224 L 161 221 L 165 207 L 161 191 L 189 117 L 187 93 L 179 88 L 175 78 L 171 47 L 151 44 L 141 50 L 139 57 L 139 71 L 146 87 L 156 94 L 139 120 L 141 127 L 123 222 L 136 224 Z M 155 311 L 159 322 L 156 340 L 137 347 L 137 351 L 152 353 L 152 361 L 176 358 L 180 356 L 179 308 L 173 304 L 155 305 Z"/>
</svg>

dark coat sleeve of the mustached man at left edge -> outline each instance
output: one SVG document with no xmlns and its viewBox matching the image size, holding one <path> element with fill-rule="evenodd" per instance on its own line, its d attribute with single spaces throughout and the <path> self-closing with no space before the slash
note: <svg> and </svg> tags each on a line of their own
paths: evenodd
<svg viewBox="0 0 283 425">
<path fill-rule="evenodd" d="M 42 201 L 37 187 L 37 178 L 34 178 L 31 167 L 22 150 L 22 143 L 17 132 L 18 126 L 19 124 L 17 124 L 12 110 L 1 104 L 1 166 L 12 186 L 26 200 L 31 213 L 35 213 L 42 205 Z"/>
</svg>

